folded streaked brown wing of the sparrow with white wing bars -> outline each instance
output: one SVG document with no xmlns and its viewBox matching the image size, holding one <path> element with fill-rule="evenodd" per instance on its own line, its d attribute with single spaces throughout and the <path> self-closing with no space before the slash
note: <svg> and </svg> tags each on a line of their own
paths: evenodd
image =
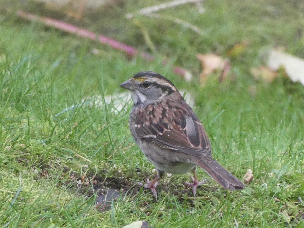
<svg viewBox="0 0 304 228">
<path fill-rule="evenodd" d="M 153 112 L 153 109 L 149 109 Z M 194 156 L 211 155 L 210 141 L 199 119 L 190 107 L 187 109 L 163 109 L 156 123 L 145 125 L 144 121 L 134 128 L 136 135 L 154 145 L 179 150 Z"/>
</svg>

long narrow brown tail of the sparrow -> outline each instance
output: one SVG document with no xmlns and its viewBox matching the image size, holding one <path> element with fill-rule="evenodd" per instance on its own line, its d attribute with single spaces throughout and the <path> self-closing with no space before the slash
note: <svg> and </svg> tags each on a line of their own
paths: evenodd
<svg viewBox="0 0 304 228">
<path fill-rule="evenodd" d="M 205 170 L 214 180 L 216 180 L 223 188 L 230 190 L 243 189 L 245 185 L 233 174 L 227 171 L 212 157 L 204 156 L 196 161 L 196 164 Z"/>
</svg>

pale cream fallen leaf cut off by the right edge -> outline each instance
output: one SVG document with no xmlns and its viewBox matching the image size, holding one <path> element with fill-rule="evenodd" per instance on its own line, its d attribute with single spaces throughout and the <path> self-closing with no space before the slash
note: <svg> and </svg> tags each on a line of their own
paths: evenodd
<svg viewBox="0 0 304 228">
<path fill-rule="evenodd" d="M 271 50 L 268 67 L 276 71 L 281 66 L 284 67 L 286 74 L 293 82 L 300 81 L 304 85 L 304 59 L 278 50 Z"/>
</svg>

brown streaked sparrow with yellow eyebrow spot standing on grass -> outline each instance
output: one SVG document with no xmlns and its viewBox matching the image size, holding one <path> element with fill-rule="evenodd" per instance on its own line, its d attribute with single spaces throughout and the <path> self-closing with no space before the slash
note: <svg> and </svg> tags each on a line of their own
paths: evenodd
<svg viewBox="0 0 304 228">
<path fill-rule="evenodd" d="M 193 173 L 193 183 L 184 184 L 193 188 L 195 197 L 196 187 L 206 181 L 197 180 L 197 165 L 223 188 L 244 188 L 238 178 L 212 159 L 210 141 L 202 123 L 171 81 L 161 74 L 142 71 L 119 86 L 132 92 L 134 105 L 129 127 L 143 154 L 156 167 L 157 177 L 153 181 L 147 179 L 144 185 L 152 190 L 155 198 L 157 181 L 164 172 L 189 171 Z"/>
</svg>

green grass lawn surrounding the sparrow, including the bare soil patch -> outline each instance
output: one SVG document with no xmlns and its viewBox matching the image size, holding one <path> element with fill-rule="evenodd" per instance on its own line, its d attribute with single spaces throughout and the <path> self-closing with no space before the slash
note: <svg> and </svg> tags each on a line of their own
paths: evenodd
<svg viewBox="0 0 304 228">
<path fill-rule="evenodd" d="M 138 16 L 159 53 L 149 63 L 3 14 L 0 224 L 122 227 L 147 220 L 154 228 L 303 227 L 304 88 L 282 75 L 265 85 L 249 72 L 261 64 L 260 53 L 267 47 L 285 46 L 304 58 L 303 36 L 298 35 L 303 31 L 304 6 L 297 1 L 281 5 L 270 0 L 205 1 L 202 15 L 191 4 L 162 12 L 198 26 L 202 36 L 166 20 Z M 100 33 L 149 51 L 142 31 L 123 19 L 140 7 L 128 1 L 124 8 L 112 9 L 120 18 L 113 19 L 110 11 L 103 18 L 109 23 L 99 19 L 89 28 L 99 33 L 108 26 L 113 30 Z M 211 78 L 200 88 L 196 53 L 216 51 L 225 56 L 231 45 L 243 40 L 249 46 L 231 58 L 235 81 L 218 84 Z M 92 54 L 93 48 L 100 53 Z M 161 65 L 164 56 L 191 70 L 195 78 L 181 80 Z M 150 191 L 136 185 L 152 178 L 154 167 L 130 136 L 131 105 L 117 114 L 111 112 L 113 104 L 79 105 L 55 117 L 81 98 L 122 92 L 118 85 L 141 70 L 157 71 L 192 92 L 213 157 L 238 178 L 253 170 L 254 181 L 232 192 L 209 180 L 193 200 L 192 191 L 181 184 L 190 174 L 174 175 L 161 181 L 155 201 Z M 249 87 L 256 89 L 255 96 Z M 209 178 L 201 169 L 198 176 Z M 84 182 L 79 184 L 81 178 Z M 121 192 L 109 210 L 96 209 L 101 187 L 118 187 Z"/>
</svg>

